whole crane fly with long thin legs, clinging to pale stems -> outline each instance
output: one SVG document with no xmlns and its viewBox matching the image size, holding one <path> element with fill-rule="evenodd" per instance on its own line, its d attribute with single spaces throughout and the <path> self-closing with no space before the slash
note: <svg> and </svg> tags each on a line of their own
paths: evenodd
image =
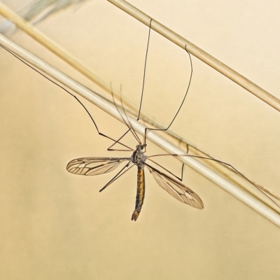
<svg viewBox="0 0 280 280">
<path fill-rule="evenodd" d="M 141 92 L 141 102 L 140 102 L 140 106 L 139 106 L 137 121 L 140 119 L 141 104 L 142 104 L 142 99 L 143 99 L 143 94 L 144 94 L 146 62 L 147 62 L 147 55 L 148 55 L 148 45 L 149 45 L 150 34 L 151 34 L 151 23 L 152 23 L 152 20 L 150 21 L 150 28 L 149 28 L 149 32 L 148 32 L 148 44 L 147 44 L 146 59 L 145 59 L 145 64 L 144 64 L 144 79 L 143 79 L 143 86 L 142 86 L 142 92 Z M 144 144 L 141 143 L 141 141 L 140 141 L 140 139 L 137 135 L 137 132 L 134 131 L 134 129 L 133 129 L 131 123 L 130 123 L 129 118 L 127 117 L 127 114 L 125 113 L 125 108 L 123 106 L 122 99 L 120 99 L 120 100 L 121 100 L 121 108 L 123 109 L 124 116 L 123 116 L 123 113 L 120 112 L 120 109 L 118 108 L 118 106 L 115 102 L 114 96 L 113 96 L 113 90 L 111 92 L 112 97 L 113 97 L 113 103 L 115 104 L 116 109 L 120 113 L 120 116 L 123 118 L 123 122 L 125 123 L 125 125 L 128 128 L 127 132 L 125 132 L 125 134 L 123 134 L 123 136 L 121 136 L 118 140 L 115 140 L 115 139 L 113 139 L 109 136 L 106 136 L 102 132 L 99 132 L 97 124 L 95 123 L 94 119 L 90 115 L 89 111 L 87 111 L 87 109 L 85 108 L 83 103 L 80 102 L 80 100 L 74 94 L 72 94 L 71 92 L 66 90 L 64 87 L 62 87 L 62 85 L 59 85 L 54 80 L 51 80 L 50 78 L 48 78 L 48 76 L 45 76 L 43 73 L 41 73 L 41 71 L 38 71 L 33 66 L 29 65 L 27 62 L 25 62 L 25 60 L 23 60 L 20 57 L 18 57 L 17 55 L 15 55 L 13 52 L 11 52 L 7 48 L 5 48 L 3 45 L 0 44 L 0 46 L 2 48 L 4 48 L 5 50 L 7 50 L 8 52 L 10 52 L 10 54 L 15 56 L 16 58 L 20 59 L 21 62 L 23 62 L 24 64 L 29 66 L 31 69 L 33 69 L 37 73 L 41 74 L 41 76 L 43 76 L 44 78 L 47 78 L 48 80 L 50 80 L 50 82 L 52 82 L 55 85 L 61 87 L 62 90 L 66 91 L 73 98 L 75 98 L 76 101 L 81 106 L 83 106 L 83 109 L 85 109 L 85 111 L 87 112 L 87 115 L 90 116 L 90 118 L 92 120 L 92 123 L 94 124 L 94 127 L 96 128 L 98 134 L 101 135 L 102 137 L 106 137 L 107 139 L 111 139 L 114 142 L 113 145 L 111 145 L 109 148 L 107 148 L 108 151 L 132 151 L 132 155 L 131 155 L 130 158 L 102 158 L 102 157 L 77 158 L 75 160 L 71 160 L 68 163 L 68 165 L 66 165 L 66 169 L 67 169 L 68 172 L 70 172 L 72 174 L 78 174 L 78 175 L 84 175 L 84 176 L 95 176 L 95 175 L 99 175 L 99 174 L 106 174 L 106 173 L 112 172 L 113 170 L 118 168 L 118 166 L 121 163 L 125 163 L 125 167 L 123 167 L 120 170 L 120 172 L 118 172 L 118 174 L 116 174 L 116 176 L 114 176 L 113 179 L 111 179 L 111 181 L 106 183 L 106 185 L 100 190 L 100 192 L 101 192 L 102 190 L 107 188 L 109 185 L 111 185 L 111 183 L 113 183 L 118 178 L 120 178 L 120 176 L 125 174 L 132 167 L 134 167 L 134 165 L 136 165 L 137 166 L 137 196 L 136 196 L 136 202 L 135 202 L 135 209 L 132 213 L 132 221 L 137 221 L 137 218 L 139 217 L 139 214 L 141 212 L 141 208 L 144 204 L 145 187 L 146 187 L 146 185 L 145 185 L 145 172 L 144 172 L 145 167 L 153 175 L 153 177 L 154 177 L 155 181 L 158 183 L 158 185 L 161 188 L 163 188 L 164 190 L 166 190 L 167 193 L 169 193 L 169 195 L 172 195 L 173 197 L 175 197 L 176 200 L 179 200 L 180 202 L 188 204 L 191 207 L 195 207 L 197 209 L 203 209 L 204 208 L 204 204 L 203 204 L 202 200 L 200 199 L 200 197 L 193 190 L 191 190 L 190 188 L 185 186 L 183 183 L 181 183 L 181 181 L 183 180 L 183 166 L 182 166 L 182 173 L 181 173 L 181 178 L 180 178 L 179 176 L 174 175 L 168 169 L 165 169 L 165 167 L 162 167 L 161 165 L 159 165 L 157 162 L 151 160 L 152 157 L 158 157 L 158 156 L 163 156 L 163 155 L 172 155 L 172 154 L 151 155 L 151 156 L 145 155 L 146 146 L 147 146 L 147 144 L 146 144 L 146 134 L 147 134 L 148 130 L 167 131 L 169 129 L 169 127 L 172 125 L 172 123 L 174 122 L 174 120 L 176 119 L 176 116 L 178 115 L 179 111 L 181 110 L 181 107 L 183 106 L 183 102 L 186 99 L 186 95 L 188 93 L 188 90 L 189 90 L 189 87 L 190 87 L 190 81 L 191 81 L 192 74 L 193 74 L 193 64 L 192 64 L 192 60 L 191 60 L 191 57 L 190 57 L 190 53 L 188 52 L 188 50 L 186 48 L 186 45 L 185 45 L 185 50 L 188 53 L 188 56 L 190 58 L 191 72 L 190 72 L 190 80 L 189 80 L 189 83 L 188 83 L 188 88 L 187 88 L 186 93 L 183 97 L 183 102 L 179 106 L 178 111 L 176 112 L 174 118 L 172 119 L 172 122 L 168 125 L 167 128 L 165 128 L 165 129 L 149 128 L 149 127 L 145 128 Z M 96 92 L 94 92 L 94 93 L 96 93 Z M 132 149 L 129 146 L 120 142 L 120 140 L 123 139 L 123 137 L 125 137 L 125 135 L 128 132 L 131 132 L 132 135 L 134 136 L 134 138 L 137 139 L 137 141 L 138 141 L 136 149 Z M 120 144 L 122 146 L 125 146 L 125 148 L 128 148 L 128 150 L 113 150 L 113 149 L 111 149 L 111 147 L 113 147 L 115 144 Z M 214 160 L 216 162 L 219 162 L 223 165 L 226 165 L 226 166 L 230 167 L 237 174 L 239 174 L 244 179 L 246 179 L 249 183 L 251 183 L 255 188 L 260 190 L 260 188 L 258 186 L 256 186 L 255 183 L 253 183 L 248 178 L 246 178 L 246 176 L 241 174 L 241 172 L 239 172 L 237 169 L 235 169 L 235 167 L 233 167 L 232 165 L 230 165 L 226 162 L 222 162 L 221 160 L 217 160 L 217 159 L 214 159 L 214 158 L 206 158 L 204 156 L 199 156 L 199 155 L 190 155 L 188 153 L 184 154 L 184 155 L 172 155 L 172 156 L 188 156 L 188 157 L 200 158 L 200 159 L 204 159 L 204 160 Z M 179 181 L 174 179 L 172 176 L 167 175 L 165 172 L 162 172 L 159 169 L 153 167 L 152 165 L 149 165 L 146 162 L 146 160 L 151 160 L 151 162 L 153 162 L 155 165 L 158 165 L 158 166 L 162 167 L 162 169 L 165 169 L 166 172 L 168 172 L 169 174 L 172 174 L 172 176 L 176 177 L 176 179 L 179 179 Z M 260 192 L 263 193 L 264 195 L 266 195 L 262 190 L 260 190 Z M 269 198 L 269 200 L 272 200 L 272 198 L 270 198 L 268 195 L 266 195 L 266 196 Z M 274 200 L 272 200 L 272 202 L 274 202 Z M 274 204 L 276 204 L 276 202 L 274 202 Z M 276 205 L 279 207 L 278 204 L 276 204 Z"/>
</svg>

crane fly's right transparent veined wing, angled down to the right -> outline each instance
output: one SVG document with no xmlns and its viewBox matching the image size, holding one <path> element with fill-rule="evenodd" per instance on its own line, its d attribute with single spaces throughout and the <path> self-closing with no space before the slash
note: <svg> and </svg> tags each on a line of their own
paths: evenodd
<svg viewBox="0 0 280 280">
<path fill-rule="evenodd" d="M 151 165 L 146 164 L 146 162 L 145 165 L 155 178 L 155 181 L 157 181 L 160 187 L 166 190 L 169 195 L 172 195 L 176 200 L 189 204 L 192 207 L 203 209 L 204 205 L 202 200 L 193 190 L 167 174 L 160 172 L 160 170 L 151 167 Z"/>
</svg>

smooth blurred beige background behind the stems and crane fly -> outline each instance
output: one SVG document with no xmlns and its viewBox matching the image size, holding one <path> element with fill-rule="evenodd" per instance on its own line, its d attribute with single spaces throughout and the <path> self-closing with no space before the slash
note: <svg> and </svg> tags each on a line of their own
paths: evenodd
<svg viewBox="0 0 280 280">
<path fill-rule="evenodd" d="M 14 9 L 23 2 L 8 1 Z M 277 1 L 130 3 L 280 98 Z M 148 36 L 140 22 L 94 0 L 38 28 L 139 100 Z M 101 91 L 22 32 L 13 40 Z M 186 90 L 188 57 L 155 32 L 148 55 L 144 108 L 168 123 Z M 279 279 L 279 228 L 188 168 L 183 182 L 204 210 L 177 202 L 146 172 L 145 204 L 132 223 L 136 169 L 104 193 L 113 174 L 65 169 L 73 158 L 123 153 L 106 151 L 111 142 L 66 92 L 4 50 L 0 65 L 1 279 Z M 172 129 L 280 192 L 279 112 L 195 57 L 193 68 Z M 102 132 L 125 130 L 85 104 Z"/>
</svg>

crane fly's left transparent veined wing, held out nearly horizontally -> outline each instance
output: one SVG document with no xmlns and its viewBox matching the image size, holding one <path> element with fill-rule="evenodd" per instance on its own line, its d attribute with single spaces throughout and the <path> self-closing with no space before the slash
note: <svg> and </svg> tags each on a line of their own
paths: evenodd
<svg viewBox="0 0 280 280">
<path fill-rule="evenodd" d="M 76 158 L 68 163 L 66 169 L 73 174 L 93 176 L 111 172 L 126 160 L 130 158 Z"/>
</svg>

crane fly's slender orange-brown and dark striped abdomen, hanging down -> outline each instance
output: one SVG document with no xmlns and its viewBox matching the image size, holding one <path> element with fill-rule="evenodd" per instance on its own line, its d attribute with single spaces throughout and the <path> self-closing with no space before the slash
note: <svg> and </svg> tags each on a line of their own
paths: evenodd
<svg viewBox="0 0 280 280">
<path fill-rule="evenodd" d="M 135 202 L 135 210 L 132 214 L 132 221 L 136 221 L 142 205 L 144 203 L 144 197 L 145 197 L 145 173 L 144 173 L 144 167 L 145 165 L 138 165 L 138 171 L 137 171 L 137 195 L 136 195 L 136 202 Z"/>
</svg>

